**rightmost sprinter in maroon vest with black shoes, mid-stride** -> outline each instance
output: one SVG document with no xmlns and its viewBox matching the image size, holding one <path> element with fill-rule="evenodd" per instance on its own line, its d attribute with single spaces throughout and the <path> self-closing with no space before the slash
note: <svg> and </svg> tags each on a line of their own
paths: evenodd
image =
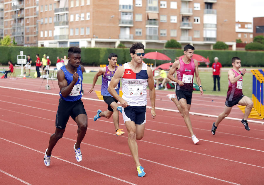
<svg viewBox="0 0 264 185">
<path fill-rule="evenodd" d="M 242 124 L 245 126 L 246 130 L 250 130 L 248 127 L 248 116 L 251 112 L 251 109 L 253 107 L 252 100 L 244 96 L 242 93 L 242 85 L 243 85 L 243 76 L 246 73 L 246 68 L 243 68 L 242 71 L 239 71 L 239 68 L 241 67 L 241 60 L 238 57 L 232 58 L 232 66 L 233 68 L 228 71 L 228 90 L 227 90 L 227 96 L 226 96 L 226 105 L 224 112 L 219 114 L 216 121 L 213 123 L 211 133 L 214 135 L 215 131 L 217 129 L 217 126 L 219 123 L 229 115 L 231 112 L 231 109 L 234 105 L 246 105 L 245 108 L 245 114 L 242 119 Z"/>
</svg>

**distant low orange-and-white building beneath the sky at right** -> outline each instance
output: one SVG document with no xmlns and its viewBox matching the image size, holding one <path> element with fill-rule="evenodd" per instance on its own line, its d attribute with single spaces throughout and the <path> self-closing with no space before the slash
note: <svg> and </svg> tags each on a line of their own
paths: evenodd
<svg viewBox="0 0 264 185">
<path fill-rule="evenodd" d="M 241 39 L 242 43 L 253 42 L 252 23 L 236 22 L 236 39 Z"/>
</svg>

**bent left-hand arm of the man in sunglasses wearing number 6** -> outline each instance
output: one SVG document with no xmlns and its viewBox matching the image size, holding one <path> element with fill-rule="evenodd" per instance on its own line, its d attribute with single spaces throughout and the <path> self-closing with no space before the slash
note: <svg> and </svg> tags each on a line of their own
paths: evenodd
<svg viewBox="0 0 264 185">
<path fill-rule="evenodd" d="M 117 68 L 113 78 L 111 79 L 111 81 L 108 85 L 107 90 L 116 100 L 118 100 L 120 102 L 121 106 L 125 108 L 128 106 L 126 100 L 124 100 L 122 97 L 120 97 L 115 90 L 116 85 L 119 83 L 119 80 L 124 75 L 124 73 L 125 73 L 125 67 L 124 66 Z"/>
</svg>

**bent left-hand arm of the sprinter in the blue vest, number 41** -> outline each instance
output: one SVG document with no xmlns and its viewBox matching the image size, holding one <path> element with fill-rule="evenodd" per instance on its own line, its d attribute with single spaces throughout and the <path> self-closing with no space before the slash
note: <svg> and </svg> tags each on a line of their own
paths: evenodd
<svg viewBox="0 0 264 185">
<path fill-rule="evenodd" d="M 77 82 L 79 75 L 78 73 L 74 72 L 72 75 L 72 82 L 68 85 L 67 80 L 65 79 L 64 72 L 62 69 L 60 69 L 57 72 L 57 78 L 58 78 L 58 85 L 60 88 L 61 95 L 63 97 L 67 97 L 70 92 L 72 92 L 72 88 L 74 87 L 75 83 Z"/>
</svg>

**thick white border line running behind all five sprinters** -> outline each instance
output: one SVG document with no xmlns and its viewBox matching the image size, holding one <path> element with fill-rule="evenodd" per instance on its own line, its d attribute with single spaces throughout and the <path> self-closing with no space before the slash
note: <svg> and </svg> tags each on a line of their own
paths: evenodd
<svg viewBox="0 0 264 185">
<path fill-rule="evenodd" d="M 40 94 L 47 94 L 47 95 L 57 95 L 59 96 L 59 94 L 55 94 L 55 93 L 49 93 L 49 92 L 40 92 L 40 91 L 34 91 L 34 90 L 26 90 L 26 89 L 19 89 L 19 88 L 11 88 L 11 87 L 4 87 L 4 86 L 0 86 L 0 88 L 6 88 L 6 89 L 13 89 L 13 90 L 21 90 L 21 91 L 27 91 L 27 92 L 36 92 L 36 93 L 40 93 Z M 92 100 L 92 101 L 98 101 L 98 102 L 104 102 L 104 100 L 98 100 L 98 99 L 93 99 L 93 98 L 86 98 L 86 97 L 82 97 L 82 100 Z M 151 108 L 150 106 L 147 106 L 147 108 Z M 165 111 L 170 111 L 170 112 L 179 112 L 178 110 L 174 110 L 174 109 L 165 109 L 165 108 L 159 108 L 156 107 L 157 110 L 165 110 Z M 203 114 L 203 113 L 198 113 L 198 112 L 189 112 L 192 115 L 199 115 L 199 116 L 206 116 L 206 117 L 214 117 L 217 118 L 218 115 L 212 115 L 212 114 Z M 225 117 L 224 119 L 231 119 L 231 120 L 237 120 L 237 121 L 241 121 L 240 118 L 232 118 L 232 117 Z M 264 124 L 263 121 L 255 121 L 255 120 L 247 120 L 248 122 L 252 122 L 252 123 L 260 123 L 260 124 Z"/>
</svg>

